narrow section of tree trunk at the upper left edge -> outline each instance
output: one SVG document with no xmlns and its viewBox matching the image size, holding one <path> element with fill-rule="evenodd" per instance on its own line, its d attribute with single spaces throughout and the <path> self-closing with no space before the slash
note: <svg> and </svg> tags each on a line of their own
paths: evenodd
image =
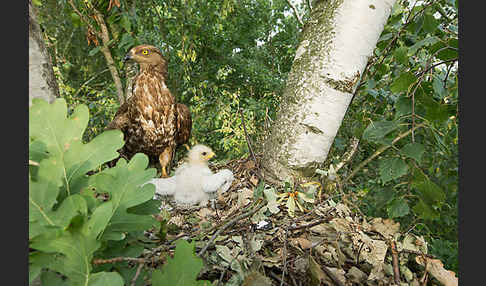
<svg viewBox="0 0 486 286">
<path fill-rule="evenodd" d="M 59 96 L 51 59 L 37 22 L 35 7 L 29 1 L 29 106 L 32 98 L 40 97 L 52 102 Z"/>
</svg>

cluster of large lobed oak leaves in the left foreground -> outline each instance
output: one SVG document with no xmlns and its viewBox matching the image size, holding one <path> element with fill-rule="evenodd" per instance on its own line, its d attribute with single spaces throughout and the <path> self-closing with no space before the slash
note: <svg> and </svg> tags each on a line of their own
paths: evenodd
<svg viewBox="0 0 486 286">
<path fill-rule="evenodd" d="M 102 246 L 109 240 L 153 225 L 150 215 L 127 209 L 152 199 L 154 186 L 140 185 L 154 177 L 155 169 L 146 170 L 148 158 L 137 154 L 129 163 L 120 159 L 116 167 L 88 177 L 123 146 L 118 130 L 82 143 L 88 119 L 84 105 L 67 117 L 64 99 L 52 104 L 35 99 L 30 107 L 29 158 L 38 163 L 29 170 L 30 282 L 42 273 L 49 285 L 64 283 L 55 271 L 69 285 L 124 285 L 117 272 L 93 271 L 95 253 L 104 257 Z M 110 198 L 98 201 L 89 190 Z"/>
</svg>

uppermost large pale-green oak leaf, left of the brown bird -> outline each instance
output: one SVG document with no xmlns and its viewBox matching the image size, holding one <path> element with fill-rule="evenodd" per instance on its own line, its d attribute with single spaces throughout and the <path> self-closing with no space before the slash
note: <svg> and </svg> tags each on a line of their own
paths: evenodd
<svg viewBox="0 0 486 286">
<path fill-rule="evenodd" d="M 86 183 L 86 173 L 119 156 L 123 133 L 110 130 L 83 144 L 82 135 L 88 124 L 86 105 L 78 105 L 67 117 L 66 101 L 56 99 L 52 104 L 34 99 L 29 109 L 29 137 L 41 141 L 46 152 L 61 168 L 63 195 L 79 193 Z M 32 143 L 31 145 L 33 145 Z"/>
</svg>

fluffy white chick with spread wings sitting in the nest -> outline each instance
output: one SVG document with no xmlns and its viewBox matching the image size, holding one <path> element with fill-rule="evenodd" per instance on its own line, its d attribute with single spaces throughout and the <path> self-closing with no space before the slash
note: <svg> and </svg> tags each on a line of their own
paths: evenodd
<svg viewBox="0 0 486 286">
<path fill-rule="evenodd" d="M 186 162 L 178 167 L 170 178 L 152 179 L 155 192 L 160 195 L 174 195 L 179 205 L 206 205 L 218 190 L 225 192 L 231 186 L 233 173 L 224 169 L 216 174 L 208 167 L 208 161 L 214 156 L 211 148 L 195 145 L 189 151 Z"/>
</svg>

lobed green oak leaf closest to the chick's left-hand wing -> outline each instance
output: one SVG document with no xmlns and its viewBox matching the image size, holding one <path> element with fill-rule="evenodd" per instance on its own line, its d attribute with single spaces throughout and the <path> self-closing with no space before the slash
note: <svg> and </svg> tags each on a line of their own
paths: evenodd
<svg viewBox="0 0 486 286">
<path fill-rule="evenodd" d="M 146 203 L 154 197 L 155 186 L 143 185 L 156 175 L 154 168 L 146 169 L 147 165 L 148 157 L 137 153 L 128 164 L 120 159 L 115 167 L 90 177 L 90 185 L 98 192 L 108 193 L 110 201 L 113 202 L 111 221 L 105 231 L 105 238 L 111 237 L 113 232 L 146 230 L 155 224 L 155 219 L 150 215 L 128 212 L 129 208 Z"/>
</svg>

